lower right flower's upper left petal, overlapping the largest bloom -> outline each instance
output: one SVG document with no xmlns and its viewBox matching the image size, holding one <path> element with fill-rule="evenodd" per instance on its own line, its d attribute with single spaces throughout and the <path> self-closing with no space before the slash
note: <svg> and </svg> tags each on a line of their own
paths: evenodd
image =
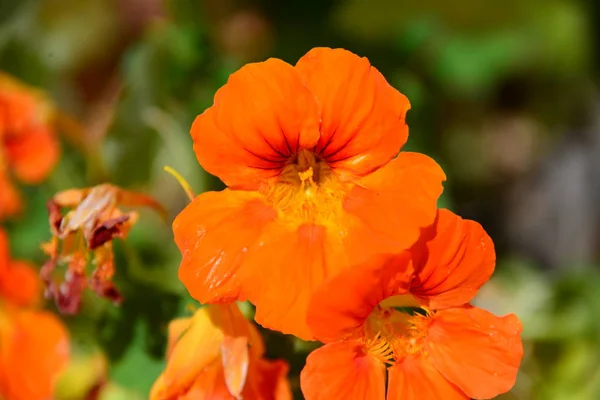
<svg viewBox="0 0 600 400">
<path fill-rule="evenodd" d="M 386 298 L 406 293 L 411 277 L 408 253 L 373 257 L 342 271 L 311 299 L 307 322 L 312 334 L 325 343 L 360 335 L 373 309 Z"/>
</svg>

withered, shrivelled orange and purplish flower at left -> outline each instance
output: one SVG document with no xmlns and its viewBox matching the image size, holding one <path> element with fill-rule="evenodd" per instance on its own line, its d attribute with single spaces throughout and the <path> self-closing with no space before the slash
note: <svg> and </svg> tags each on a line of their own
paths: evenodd
<svg viewBox="0 0 600 400">
<path fill-rule="evenodd" d="M 54 297 L 62 313 L 79 310 L 81 293 L 87 285 L 86 269 L 94 270 L 89 279 L 91 289 L 115 303 L 121 296 L 111 279 L 115 272 L 112 240 L 125 239 L 136 223 L 135 211 L 122 212 L 118 207 L 152 207 L 163 216 L 163 207 L 153 198 L 129 192 L 109 184 L 85 189 L 71 189 L 56 194 L 48 202 L 52 239 L 42 245 L 50 257 L 40 272 L 47 295 Z M 62 208 L 68 208 L 66 214 Z M 53 279 L 57 266 L 66 265 L 65 280 Z"/>
</svg>

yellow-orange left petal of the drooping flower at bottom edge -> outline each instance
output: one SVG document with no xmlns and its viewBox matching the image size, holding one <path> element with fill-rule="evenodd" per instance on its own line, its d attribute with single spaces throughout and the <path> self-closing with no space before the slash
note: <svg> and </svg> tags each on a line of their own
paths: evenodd
<svg viewBox="0 0 600 400">
<path fill-rule="evenodd" d="M 196 311 L 186 333 L 167 360 L 163 377 L 155 383 L 151 397 L 169 399 L 189 388 L 209 365 L 220 362 L 223 332 L 211 319 L 209 307 Z"/>
</svg>

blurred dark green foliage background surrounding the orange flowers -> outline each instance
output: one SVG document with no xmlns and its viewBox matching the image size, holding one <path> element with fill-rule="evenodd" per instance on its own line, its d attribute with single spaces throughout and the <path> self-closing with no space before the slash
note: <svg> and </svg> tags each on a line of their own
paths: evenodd
<svg viewBox="0 0 600 400">
<path fill-rule="evenodd" d="M 65 116 L 60 164 L 23 188 L 27 211 L 6 224 L 12 252 L 41 265 L 44 205 L 63 189 L 113 182 L 153 194 L 171 218 L 187 199 L 164 165 L 196 193 L 220 189 L 188 130 L 228 75 L 344 47 L 409 97 L 408 148 L 445 168 L 441 205 L 496 243 L 477 303 L 525 327 L 522 370 L 502 399 L 600 399 L 599 36 L 595 0 L 0 0 L 0 69 Z M 147 398 L 167 323 L 194 304 L 169 223 L 143 212 L 116 250 L 125 302 L 88 294 L 66 318 L 75 359 L 58 400 Z M 301 398 L 314 345 L 265 337 Z"/>
</svg>

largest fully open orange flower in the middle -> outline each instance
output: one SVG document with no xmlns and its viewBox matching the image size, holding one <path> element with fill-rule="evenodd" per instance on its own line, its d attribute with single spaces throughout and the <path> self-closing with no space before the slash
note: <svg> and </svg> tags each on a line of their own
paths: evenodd
<svg viewBox="0 0 600 400">
<path fill-rule="evenodd" d="M 192 296 L 248 299 L 260 324 L 311 338 L 304 316 L 324 280 L 410 247 L 435 218 L 444 173 L 398 154 L 409 108 L 341 49 L 231 75 L 191 129 L 200 164 L 229 188 L 201 194 L 173 224 Z"/>
</svg>

